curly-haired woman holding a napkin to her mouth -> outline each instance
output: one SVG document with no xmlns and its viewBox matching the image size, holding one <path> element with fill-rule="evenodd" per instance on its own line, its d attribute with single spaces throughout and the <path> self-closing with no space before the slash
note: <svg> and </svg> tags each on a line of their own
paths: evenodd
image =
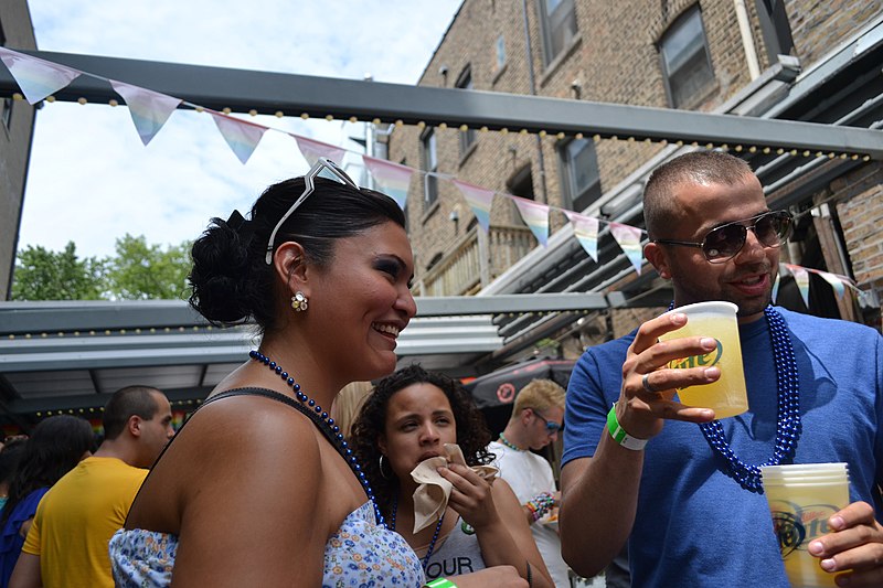
<svg viewBox="0 0 883 588">
<path fill-rule="evenodd" d="M 553 586 L 512 489 L 471 468 L 493 461 L 490 440 L 481 413 L 458 382 L 411 365 L 382 379 L 365 398 L 350 443 L 386 525 L 416 550 L 427 579 L 504 565 L 530 586 Z M 419 484 L 411 472 L 427 459 L 446 457 L 449 443 L 459 446 L 466 463 L 454 460 L 438 468 L 453 484 L 447 507 L 415 533 Z M 468 578 L 451 580 L 462 586 Z"/>
</svg>

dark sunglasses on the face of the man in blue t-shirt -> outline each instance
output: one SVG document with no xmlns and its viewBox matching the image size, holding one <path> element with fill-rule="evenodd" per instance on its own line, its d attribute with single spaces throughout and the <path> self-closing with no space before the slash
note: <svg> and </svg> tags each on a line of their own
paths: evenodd
<svg viewBox="0 0 883 588">
<path fill-rule="evenodd" d="M 751 224 L 744 224 L 751 223 Z M 748 231 L 754 231 L 757 240 L 764 247 L 778 247 L 791 235 L 794 217 L 788 211 L 772 211 L 752 216 L 744 221 L 735 221 L 725 225 L 716 226 L 709 231 L 701 242 L 652 239 L 652 243 L 662 245 L 683 245 L 684 247 L 699 247 L 702 255 L 712 264 L 722 264 L 735 257 L 745 239 Z"/>
</svg>

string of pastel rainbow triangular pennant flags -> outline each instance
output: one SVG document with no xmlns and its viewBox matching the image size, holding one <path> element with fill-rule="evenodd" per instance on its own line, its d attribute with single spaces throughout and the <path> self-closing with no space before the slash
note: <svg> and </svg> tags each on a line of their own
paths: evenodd
<svg viewBox="0 0 883 588">
<path fill-rule="evenodd" d="M 598 261 L 598 233 L 600 223 L 609 226 L 610 235 L 614 240 L 619 245 L 623 252 L 631 263 L 632 268 L 639 275 L 643 261 L 641 238 L 645 233 L 643 229 L 616 223 L 610 221 L 603 221 L 592 216 L 585 216 L 573 211 L 560 209 L 557 206 L 550 206 L 533 202 L 528 199 L 519 197 L 512 194 L 498 192 L 487 188 L 464 182 L 453 175 L 427 172 L 411 168 L 401 163 L 394 163 L 384 159 L 376 159 L 366 154 L 350 151 L 342 147 L 337 147 L 299 135 L 280 131 L 272 127 L 266 127 L 256 122 L 243 120 L 227 116 L 227 113 L 219 113 L 211 108 L 205 108 L 200 105 L 188 103 L 181 98 L 175 98 L 153 92 L 139 86 L 134 86 L 125 82 L 109 79 L 87 72 L 82 72 L 66 65 L 56 64 L 46 60 L 34 57 L 25 53 L 19 53 L 7 47 L 0 46 L 0 61 L 9 68 L 10 74 L 18 83 L 22 93 L 24 94 L 28 103 L 34 105 L 41 100 L 52 96 L 55 92 L 66 87 L 74 79 L 81 75 L 86 75 L 97 79 L 103 79 L 110 84 L 114 92 L 119 94 L 126 101 L 129 108 L 132 122 L 138 131 L 141 142 L 147 146 L 153 137 L 160 131 L 162 126 L 169 119 L 171 114 L 177 110 L 181 105 L 193 108 L 198 113 L 208 113 L 212 116 L 217 130 L 221 132 L 224 140 L 230 146 L 236 158 L 245 164 L 252 157 L 252 153 L 257 148 L 262 137 L 267 130 L 275 130 L 285 132 L 291 136 L 300 150 L 300 153 L 312 165 L 320 157 L 326 157 L 332 161 L 341 161 L 347 152 L 357 153 L 362 158 L 365 168 L 377 185 L 390 195 L 398 206 L 404 210 L 407 202 L 408 186 L 414 173 L 424 175 L 434 175 L 442 180 L 449 180 L 462 193 L 469 207 L 476 215 L 476 220 L 481 228 L 487 233 L 490 231 L 490 212 L 493 203 L 493 197 L 497 195 L 510 199 L 519 211 L 524 223 L 531 229 L 536 240 L 546 247 L 549 244 L 549 212 L 555 209 L 564 213 L 573 227 L 574 237 L 579 242 L 579 245 L 592 257 Z M 116 100 L 110 103 L 116 106 Z M 864 292 L 859 290 L 852 280 L 845 276 L 830 274 L 812 268 L 805 268 L 789 264 L 783 266 L 791 274 L 804 298 L 807 307 L 809 307 L 809 272 L 821 276 L 828 284 L 831 285 L 838 298 L 842 298 L 845 289 L 850 288 L 863 296 Z M 781 272 L 779 272 L 781 274 Z M 776 299 L 778 293 L 779 278 L 777 276 L 776 282 L 773 288 L 773 299 Z"/>
</svg>

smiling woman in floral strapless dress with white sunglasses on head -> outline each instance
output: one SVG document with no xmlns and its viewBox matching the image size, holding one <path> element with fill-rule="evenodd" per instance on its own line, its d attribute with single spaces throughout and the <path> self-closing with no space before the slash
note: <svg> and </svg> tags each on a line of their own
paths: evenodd
<svg viewBox="0 0 883 588">
<path fill-rule="evenodd" d="M 330 179 L 320 177 L 328 175 Z M 260 343 L 152 468 L 110 542 L 118 586 L 421 586 L 329 417 L 395 367 L 416 311 L 404 216 L 320 159 L 193 245 L 190 302 Z"/>
</svg>

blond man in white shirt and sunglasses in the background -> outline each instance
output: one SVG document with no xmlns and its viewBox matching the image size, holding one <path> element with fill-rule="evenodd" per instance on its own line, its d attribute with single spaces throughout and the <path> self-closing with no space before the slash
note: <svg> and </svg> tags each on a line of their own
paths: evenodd
<svg viewBox="0 0 883 588">
<path fill-rule="evenodd" d="M 552 467 L 533 453 L 557 439 L 564 420 L 564 388 L 551 379 L 533 379 L 518 393 L 512 416 L 500 438 L 488 446 L 497 456 L 500 478 L 515 492 L 533 539 L 556 587 L 567 588 L 567 564 L 561 558 L 557 498 Z"/>
</svg>

